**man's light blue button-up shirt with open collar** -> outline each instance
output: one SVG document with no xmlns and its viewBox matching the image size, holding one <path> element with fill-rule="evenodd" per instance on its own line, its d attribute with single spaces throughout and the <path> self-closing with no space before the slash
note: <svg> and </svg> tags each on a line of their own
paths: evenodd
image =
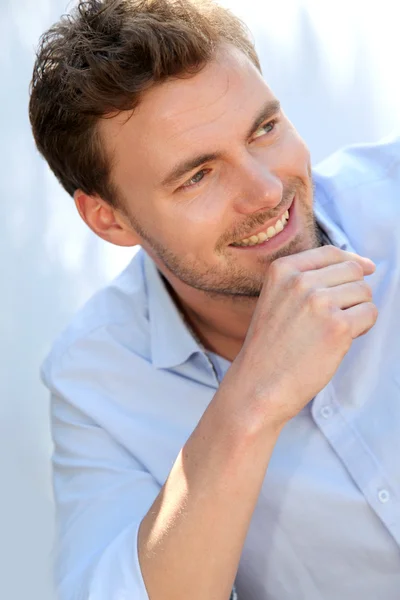
<svg viewBox="0 0 400 600">
<path fill-rule="evenodd" d="M 398 600 L 400 140 L 341 151 L 314 181 L 332 243 L 377 265 L 369 281 L 380 314 L 284 428 L 243 548 L 238 596 Z M 229 363 L 211 359 L 222 377 Z M 218 380 L 143 251 L 76 315 L 43 378 L 59 596 L 148 600 L 138 527 Z"/>
</svg>

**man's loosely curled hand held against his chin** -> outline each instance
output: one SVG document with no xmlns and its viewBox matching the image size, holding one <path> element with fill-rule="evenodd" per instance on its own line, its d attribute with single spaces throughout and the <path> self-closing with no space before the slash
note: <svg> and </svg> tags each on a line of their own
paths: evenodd
<svg viewBox="0 0 400 600">
<path fill-rule="evenodd" d="M 274 261 L 234 378 L 258 418 L 279 427 L 330 381 L 354 338 L 375 324 L 368 258 L 324 246 Z"/>
</svg>

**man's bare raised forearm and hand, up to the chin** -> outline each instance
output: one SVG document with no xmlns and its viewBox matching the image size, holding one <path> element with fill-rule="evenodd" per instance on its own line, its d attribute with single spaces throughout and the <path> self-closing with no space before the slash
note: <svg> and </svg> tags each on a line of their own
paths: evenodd
<svg viewBox="0 0 400 600">
<path fill-rule="evenodd" d="M 373 270 L 332 247 L 270 267 L 242 351 L 142 521 L 151 600 L 229 597 L 280 430 L 376 320 Z"/>
</svg>

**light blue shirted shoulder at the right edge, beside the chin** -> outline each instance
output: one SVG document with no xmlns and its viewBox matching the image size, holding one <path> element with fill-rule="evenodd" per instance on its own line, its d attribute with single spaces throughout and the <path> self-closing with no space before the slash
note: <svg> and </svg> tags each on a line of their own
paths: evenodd
<svg viewBox="0 0 400 600">
<path fill-rule="evenodd" d="M 400 260 L 400 137 L 349 146 L 313 170 L 315 211 L 360 253 Z"/>
</svg>

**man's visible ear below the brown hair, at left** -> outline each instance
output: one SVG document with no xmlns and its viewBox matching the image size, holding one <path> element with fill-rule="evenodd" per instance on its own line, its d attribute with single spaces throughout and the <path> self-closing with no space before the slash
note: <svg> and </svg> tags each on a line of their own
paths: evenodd
<svg viewBox="0 0 400 600">
<path fill-rule="evenodd" d="M 98 196 L 89 196 L 82 190 L 75 192 L 74 201 L 86 225 L 103 240 L 116 246 L 136 246 L 141 243 L 121 211 L 108 202 Z"/>
</svg>

